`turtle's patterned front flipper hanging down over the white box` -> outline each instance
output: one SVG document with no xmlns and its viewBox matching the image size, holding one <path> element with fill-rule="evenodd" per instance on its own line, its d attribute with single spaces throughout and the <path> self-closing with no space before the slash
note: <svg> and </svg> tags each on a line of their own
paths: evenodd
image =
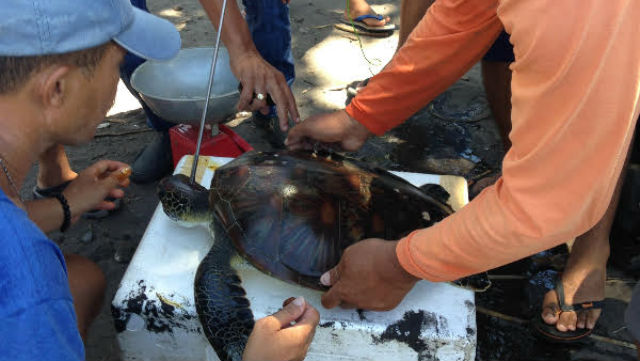
<svg viewBox="0 0 640 361">
<path fill-rule="evenodd" d="M 218 220 L 212 228 L 215 241 L 194 282 L 196 311 L 220 360 L 241 360 L 253 330 L 253 313 L 240 277 L 230 265 L 235 250 L 229 235 Z"/>
</svg>

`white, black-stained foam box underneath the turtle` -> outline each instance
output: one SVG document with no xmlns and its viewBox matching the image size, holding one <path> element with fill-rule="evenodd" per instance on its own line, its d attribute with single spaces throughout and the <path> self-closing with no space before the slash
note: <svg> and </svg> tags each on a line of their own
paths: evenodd
<svg viewBox="0 0 640 361">
<path fill-rule="evenodd" d="M 201 167 L 204 173 L 198 181 L 208 186 L 215 167 L 230 158 L 203 158 L 208 166 Z M 183 158 L 176 169 L 188 174 L 184 163 Z M 441 178 L 417 173 L 396 174 L 416 185 L 439 183 Z M 112 302 L 120 324 L 126 325 L 118 334 L 123 359 L 217 359 L 201 333 L 193 297 L 196 269 L 212 242 L 205 226 L 178 226 L 158 206 Z M 475 358 L 475 304 L 471 291 L 421 281 L 389 312 L 327 310 L 320 303 L 321 292 L 266 276 L 239 257 L 234 260 L 234 266 L 243 280 L 256 319 L 277 311 L 290 296 L 302 295 L 318 308 L 320 327 L 309 350 L 309 360 Z M 162 301 L 165 309 L 172 305 L 173 312 L 163 312 Z M 408 330 L 403 328 L 405 317 L 422 322 Z M 396 339 L 381 338 L 383 333 Z M 406 342 L 412 337 L 413 342 Z M 411 348 L 410 343 L 420 352 Z"/>
</svg>

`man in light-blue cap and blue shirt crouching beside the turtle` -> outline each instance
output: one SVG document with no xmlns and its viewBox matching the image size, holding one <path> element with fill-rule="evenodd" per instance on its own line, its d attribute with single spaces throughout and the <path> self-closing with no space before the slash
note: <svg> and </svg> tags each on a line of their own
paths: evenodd
<svg viewBox="0 0 640 361">
<path fill-rule="evenodd" d="M 168 59 L 180 47 L 171 23 L 127 0 L 11 0 L 0 18 L 0 359 L 82 360 L 105 281 L 44 232 L 122 197 L 130 168 L 99 161 L 53 198 L 25 202 L 21 185 L 39 155 L 93 137 L 111 107 L 126 50 Z M 144 39 L 136 32 L 150 34 Z M 126 50 L 125 50 L 126 49 Z M 318 323 L 304 299 L 258 320 L 247 359 L 302 358 Z M 294 326 L 291 322 L 296 321 Z M 256 356 L 259 355 L 259 356 Z"/>
</svg>

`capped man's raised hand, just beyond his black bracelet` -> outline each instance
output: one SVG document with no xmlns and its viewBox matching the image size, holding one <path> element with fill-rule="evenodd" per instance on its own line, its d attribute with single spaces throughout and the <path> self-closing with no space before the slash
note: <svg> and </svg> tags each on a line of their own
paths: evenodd
<svg viewBox="0 0 640 361">
<path fill-rule="evenodd" d="M 124 191 L 119 187 L 129 185 L 130 174 L 128 164 L 113 160 L 101 160 L 78 173 L 62 193 L 74 220 L 92 209 L 113 209 L 115 204 L 105 198 L 122 198 Z"/>
</svg>

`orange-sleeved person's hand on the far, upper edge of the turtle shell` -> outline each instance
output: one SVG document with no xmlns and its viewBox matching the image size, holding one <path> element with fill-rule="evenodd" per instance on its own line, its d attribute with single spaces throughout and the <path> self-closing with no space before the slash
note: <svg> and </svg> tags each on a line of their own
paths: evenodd
<svg viewBox="0 0 640 361">
<path fill-rule="evenodd" d="M 356 151 L 371 132 L 344 110 L 314 115 L 291 128 L 284 144 L 292 150 L 311 149 L 313 141 L 338 143 L 346 151 Z"/>
</svg>

